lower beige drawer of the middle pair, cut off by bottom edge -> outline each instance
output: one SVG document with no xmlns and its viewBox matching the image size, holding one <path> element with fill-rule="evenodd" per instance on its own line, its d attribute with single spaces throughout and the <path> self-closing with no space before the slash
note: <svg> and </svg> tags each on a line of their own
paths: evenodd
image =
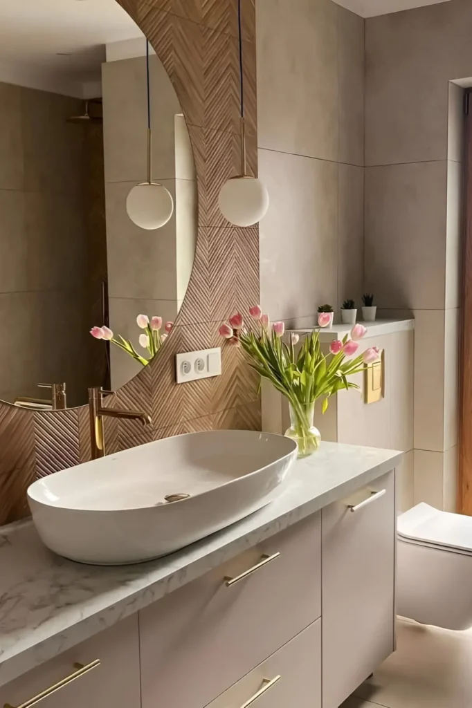
<svg viewBox="0 0 472 708">
<path fill-rule="evenodd" d="M 215 698 L 208 708 L 243 708 L 248 702 L 254 708 L 321 708 L 321 619 Z"/>
</svg>

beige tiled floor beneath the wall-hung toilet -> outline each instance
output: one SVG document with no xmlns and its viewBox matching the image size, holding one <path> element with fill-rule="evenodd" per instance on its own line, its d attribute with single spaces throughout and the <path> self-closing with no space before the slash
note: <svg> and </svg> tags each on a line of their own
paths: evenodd
<svg viewBox="0 0 472 708">
<path fill-rule="evenodd" d="M 472 632 L 399 620 L 397 651 L 342 708 L 472 708 Z"/>
</svg>

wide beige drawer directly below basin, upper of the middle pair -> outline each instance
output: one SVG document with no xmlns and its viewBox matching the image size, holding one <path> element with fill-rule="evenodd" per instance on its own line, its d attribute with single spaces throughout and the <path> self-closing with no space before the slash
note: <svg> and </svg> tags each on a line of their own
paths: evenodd
<svg viewBox="0 0 472 708">
<path fill-rule="evenodd" d="M 206 706 L 320 617 L 320 586 L 317 514 L 142 610 L 142 708 Z"/>
</svg>

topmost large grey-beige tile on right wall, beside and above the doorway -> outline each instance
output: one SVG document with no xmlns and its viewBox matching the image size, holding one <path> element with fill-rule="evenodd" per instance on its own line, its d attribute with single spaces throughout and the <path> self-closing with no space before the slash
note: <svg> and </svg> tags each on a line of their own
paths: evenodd
<svg viewBox="0 0 472 708">
<path fill-rule="evenodd" d="M 471 21 L 468 0 L 366 21 L 367 165 L 446 159 L 448 83 L 471 75 Z"/>
</svg>

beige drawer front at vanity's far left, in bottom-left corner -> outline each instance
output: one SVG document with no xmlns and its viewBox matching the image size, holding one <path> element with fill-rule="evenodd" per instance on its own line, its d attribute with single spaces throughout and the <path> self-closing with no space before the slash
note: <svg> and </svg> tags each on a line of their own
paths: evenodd
<svg viewBox="0 0 472 708">
<path fill-rule="evenodd" d="M 0 706 L 21 706 L 99 659 L 77 679 L 45 697 L 42 708 L 140 708 L 140 666 L 137 615 L 84 641 L 74 649 L 0 687 Z"/>
</svg>

